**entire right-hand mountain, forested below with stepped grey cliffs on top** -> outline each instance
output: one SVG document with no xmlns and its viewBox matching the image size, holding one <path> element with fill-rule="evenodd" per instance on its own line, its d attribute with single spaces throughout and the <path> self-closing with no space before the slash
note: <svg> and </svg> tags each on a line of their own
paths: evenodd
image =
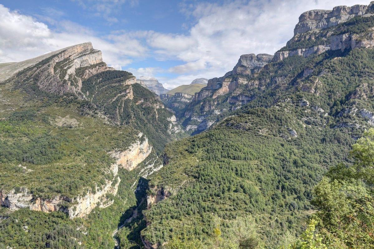
<svg viewBox="0 0 374 249">
<path fill-rule="evenodd" d="M 200 134 L 168 144 L 148 183 L 145 248 L 370 248 L 373 237 L 359 234 L 374 231 L 360 218 L 371 214 L 373 174 L 358 175 L 371 163 L 349 150 L 374 124 L 373 11 L 305 12 L 275 56 L 243 55 L 195 94 L 178 121 Z M 372 133 L 353 150 L 368 149 Z M 361 225 L 350 230 L 349 217 Z"/>
</svg>

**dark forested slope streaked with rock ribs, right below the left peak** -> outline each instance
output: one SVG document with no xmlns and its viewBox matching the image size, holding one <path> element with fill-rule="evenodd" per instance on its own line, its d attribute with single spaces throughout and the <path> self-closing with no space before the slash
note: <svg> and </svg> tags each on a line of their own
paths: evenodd
<svg viewBox="0 0 374 249">
<path fill-rule="evenodd" d="M 131 125 L 142 131 L 161 153 L 164 144 L 171 140 L 168 118 L 172 114 L 161 107 L 162 103 L 153 92 L 140 84 L 123 85 L 130 77 L 132 74 L 126 71 L 101 72 L 82 83 L 82 92 L 87 93 L 94 105 L 91 108 L 104 113 L 116 124 Z"/>
</svg>

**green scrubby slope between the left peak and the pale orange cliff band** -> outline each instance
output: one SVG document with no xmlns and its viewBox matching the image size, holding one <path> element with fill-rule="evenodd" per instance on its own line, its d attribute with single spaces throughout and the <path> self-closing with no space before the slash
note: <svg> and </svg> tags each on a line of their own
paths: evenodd
<svg viewBox="0 0 374 249">
<path fill-rule="evenodd" d="M 26 187 L 34 196 L 74 197 L 113 179 L 108 152 L 125 150 L 137 131 L 80 116 L 74 106 L 14 112 L 0 121 L 0 189 Z"/>
</svg>

